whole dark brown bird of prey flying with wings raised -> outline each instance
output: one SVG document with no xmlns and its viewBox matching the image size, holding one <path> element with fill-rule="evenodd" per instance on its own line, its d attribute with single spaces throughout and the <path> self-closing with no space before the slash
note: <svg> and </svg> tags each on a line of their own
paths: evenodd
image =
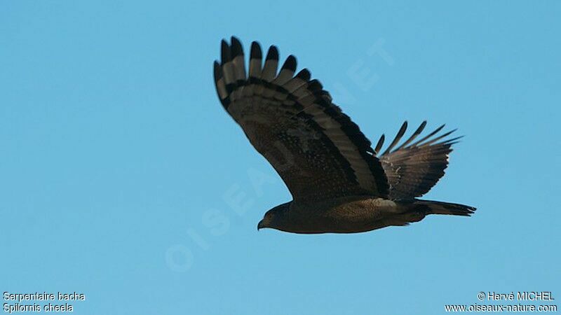
<svg viewBox="0 0 561 315">
<path fill-rule="evenodd" d="M 252 42 L 248 71 L 241 42 L 222 41 L 214 63 L 222 106 L 241 126 L 252 146 L 271 163 L 293 200 L 266 211 L 257 225 L 295 233 L 354 233 L 408 225 L 428 214 L 470 216 L 474 207 L 419 200 L 444 175 L 454 130 L 444 125 L 421 137 L 426 121 L 400 144 L 403 123 L 381 152 L 358 125 L 333 104 L 308 69 L 296 73 L 296 58 L 278 68 L 272 45 L 263 62 Z M 295 74 L 296 73 L 296 74 Z M 418 139 L 421 138 L 421 139 Z"/>
</svg>

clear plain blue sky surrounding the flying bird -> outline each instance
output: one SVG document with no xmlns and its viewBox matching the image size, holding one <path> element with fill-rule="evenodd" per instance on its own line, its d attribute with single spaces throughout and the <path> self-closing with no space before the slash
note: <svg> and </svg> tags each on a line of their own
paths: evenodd
<svg viewBox="0 0 561 315">
<path fill-rule="evenodd" d="M 362 2 L 2 1 L 0 290 L 85 293 L 74 314 L 561 300 L 561 3 Z M 476 214 L 257 232 L 290 194 L 217 100 L 233 34 L 295 54 L 372 141 L 403 120 L 458 127 L 426 198 Z"/>
</svg>

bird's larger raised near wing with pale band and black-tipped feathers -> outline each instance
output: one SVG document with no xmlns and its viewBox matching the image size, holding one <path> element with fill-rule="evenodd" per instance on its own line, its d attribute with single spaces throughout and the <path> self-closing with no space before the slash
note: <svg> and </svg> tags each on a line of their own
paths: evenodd
<svg viewBox="0 0 561 315">
<path fill-rule="evenodd" d="M 222 41 L 215 84 L 224 109 L 251 144 L 276 169 L 292 197 L 313 202 L 326 197 L 386 197 L 388 183 L 370 141 L 310 72 L 295 75 L 290 55 L 277 73 L 278 50 L 251 45 L 249 71 L 237 38 Z"/>
</svg>

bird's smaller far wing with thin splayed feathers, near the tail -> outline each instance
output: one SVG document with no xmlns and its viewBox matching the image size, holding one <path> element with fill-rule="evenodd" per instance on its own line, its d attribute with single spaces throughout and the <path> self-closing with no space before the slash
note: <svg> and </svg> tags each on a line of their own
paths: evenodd
<svg viewBox="0 0 561 315">
<path fill-rule="evenodd" d="M 393 150 L 407 130 L 406 121 L 384 153 L 378 155 L 384 145 L 383 134 L 374 149 L 388 177 L 389 197 L 392 200 L 410 199 L 428 193 L 428 190 L 431 190 L 444 175 L 444 170 L 448 166 L 448 155 L 452 152 L 452 144 L 461 138 L 456 137 L 438 142 L 455 131 L 433 137 L 442 130 L 444 127 L 442 125 L 422 139 L 413 142 L 423 132 L 425 126 L 426 121 L 421 123 L 407 141 Z"/>
</svg>

